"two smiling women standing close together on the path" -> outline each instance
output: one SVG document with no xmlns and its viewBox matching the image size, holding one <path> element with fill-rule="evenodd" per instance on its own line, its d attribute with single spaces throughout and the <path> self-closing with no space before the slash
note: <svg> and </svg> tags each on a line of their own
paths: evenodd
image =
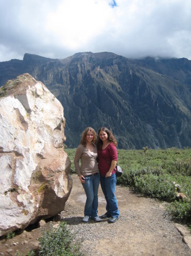
<svg viewBox="0 0 191 256">
<path fill-rule="evenodd" d="M 95 221 L 101 221 L 97 216 L 99 182 L 107 203 L 107 212 L 101 218 L 109 218 L 109 223 L 114 223 L 118 220 L 120 213 L 117 199 L 114 195 L 117 181 L 115 174 L 117 163 L 116 146 L 117 142 L 112 132 L 105 127 L 101 127 L 98 132 L 97 146 L 95 130 L 87 127 L 83 131 L 80 145 L 75 152 L 74 165 L 87 196 L 84 208 L 84 222 L 87 222 L 90 217 Z M 79 160 L 81 161 L 80 167 Z"/>
</svg>

